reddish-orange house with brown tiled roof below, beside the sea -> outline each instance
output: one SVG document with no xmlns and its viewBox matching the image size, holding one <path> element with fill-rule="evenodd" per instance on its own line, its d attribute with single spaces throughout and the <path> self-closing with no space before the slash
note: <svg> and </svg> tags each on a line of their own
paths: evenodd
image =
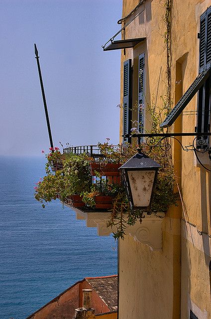
<svg viewBox="0 0 211 319">
<path fill-rule="evenodd" d="M 88 311 L 84 307 L 84 291 L 91 292 Z M 90 317 L 90 308 L 92 310 Z M 26 319 L 72 319 L 75 309 L 86 318 L 117 318 L 117 276 L 87 277 L 62 292 Z M 78 318 L 78 317 L 77 317 Z"/>
</svg>

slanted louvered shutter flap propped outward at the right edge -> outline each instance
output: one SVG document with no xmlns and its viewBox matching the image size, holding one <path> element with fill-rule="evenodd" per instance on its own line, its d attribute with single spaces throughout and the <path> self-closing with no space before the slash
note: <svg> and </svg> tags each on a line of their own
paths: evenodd
<svg viewBox="0 0 211 319">
<path fill-rule="evenodd" d="M 194 95 L 199 91 L 199 89 L 203 86 L 205 81 L 210 76 L 211 69 L 207 69 L 200 73 L 198 77 L 194 80 L 188 90 L 184 93 L 179 102 L 175 105 L 175 107 L 171 110 L 169 115 L 165 118 L 163 123 L 161 123 L 161 128 L 167 128 L 171 126 L 178 116 L 183 112 L 188 103 L 193 99 Z"/>
</svg>

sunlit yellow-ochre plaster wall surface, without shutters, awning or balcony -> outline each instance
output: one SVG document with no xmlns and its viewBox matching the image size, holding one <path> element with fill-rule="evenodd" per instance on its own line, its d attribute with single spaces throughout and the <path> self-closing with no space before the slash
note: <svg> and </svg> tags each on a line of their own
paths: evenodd
<svg viewBox="0 0 211 319">
<path fill-rule="evenodd" d="M 145 52 L 145 97 L 151 104 L 158 92 L 166 94 L 166 49 L 163 34 L 165 0 L 146 0 L 122 36 L 145 37 L 134 49 L 121 52 L 121 105 L 123 61 L 134 62 L 133 106 L 137 102 L 137 58 Z M 122 16 L 128 14 L 138 0 L 123 0 Z M 172 0 L 171 15 L 171 94 L 173 105 L 198 75 L 200 15 L 211 0 Z M 132 16 L 131 16 L 132 17 Z M 126 22 L 131 18 L 129 17 Z M 124 54 L 125 53 L 125 54 Z M 159 74 L 161 78 L 159 82 Z M 196 111 L 197 95 L 185 111 Z M 135 108 L 134 108 L 135 109 Z M 135 117 L 135 110 L 133 117 Z M 185 113 L 184 113 L 185 114 Z M 146 129 L 150 129 L 146 118 Z M 194 132 L 196 115 L 178 118 L 171 132 Z M 120 135 L 122 109 L 120 109 Z M 181 138 L 183 145 L 193 139 Z M 199 319 L 211 319 L 211 173 L 197 163 L 193 152 L 181 151 L 172 143 L 173 160 L 183 205 L 168 211 L 163 220 L 163 249 L 149 247 L 126 237 L 119 242 L 119 319 L 189 319 L 190 310 Z M 206 162 L 205 162 L 206 163 Z M 211 165 L 208 164 L 211 168 Z M 203 233 L 202 233 L 203 232 Z"/>
</svg>

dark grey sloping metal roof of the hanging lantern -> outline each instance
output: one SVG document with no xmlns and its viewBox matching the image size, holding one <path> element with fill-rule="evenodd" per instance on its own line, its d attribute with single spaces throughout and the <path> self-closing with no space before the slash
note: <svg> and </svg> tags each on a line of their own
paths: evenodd
<svg viewBox="0 0 211 319">
<path fill-rule="evenodd" d="M 150 159 L 145 154 L 139 152 L 136 155 L 134 155 L 131 159 L 127 160 L 126 163 L 124 163 L 119 169 L 126 168 L 126 169 L 158 169 L 161 167 L 159 163 L 157 163 L 155 160 Z"/>
</svg>

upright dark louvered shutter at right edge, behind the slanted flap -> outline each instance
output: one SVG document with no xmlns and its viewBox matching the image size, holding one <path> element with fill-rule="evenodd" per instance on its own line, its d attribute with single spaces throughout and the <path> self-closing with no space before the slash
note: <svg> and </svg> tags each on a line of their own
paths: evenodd
<svg viewBox="0 0 211 319">
<path fill-rule="evenodd" d="M 200 18 L 200 54 L 199 73 L 211 67 L 211 7 Z M 198 92 L 197 127 L 196 132 L 210 132 L 211 121 L 211 76 L 207 78 Z M 209 147 L 209 136 L 197 140 L 198 149 Z"/>
</svg>

